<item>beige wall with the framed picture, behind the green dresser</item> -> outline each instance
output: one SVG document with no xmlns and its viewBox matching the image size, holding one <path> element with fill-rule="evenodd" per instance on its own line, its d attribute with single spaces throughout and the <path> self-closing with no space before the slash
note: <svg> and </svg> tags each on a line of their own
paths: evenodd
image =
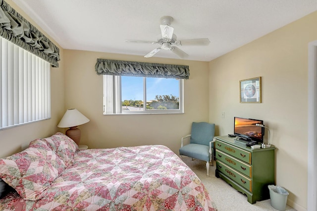
<svg viewBox="0 0 317 211">
<path fill-rule="evenodd" d="M 233 133 L 233 117 L 264 120 L 276 146 L 276 185 L 288 204 L 307 209 L 308 43 L 317 12 L 210 62 L 210 121 Z M 262 103 L 239 103 L 239 80 L 262 77 Z M 221 118 L 221 112 L 225 118 Z"/>
</svg>

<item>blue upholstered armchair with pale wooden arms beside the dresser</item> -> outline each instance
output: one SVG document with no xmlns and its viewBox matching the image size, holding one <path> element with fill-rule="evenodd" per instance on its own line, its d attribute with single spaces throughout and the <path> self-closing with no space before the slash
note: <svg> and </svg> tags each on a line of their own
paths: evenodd
<svg viewBox="0 0 317 211">
<path fill-rule="evenodd" d="M 209 162 L 213 165 L 213 136 L 214 124 L 208 122 L 193 122 L 190 135 L 182 137 L 179 155 L 205 160 L 207 176 L 209 176 Z M 183 140 L 190 137 L 190 144 L 183 146 Z"/>
</svg>

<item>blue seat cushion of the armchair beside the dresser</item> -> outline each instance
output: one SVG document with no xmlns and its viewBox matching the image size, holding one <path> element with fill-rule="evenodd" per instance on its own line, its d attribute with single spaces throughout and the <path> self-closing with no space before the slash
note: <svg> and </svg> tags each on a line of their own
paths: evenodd
<svg viewBox="0 0 317 211">
<path fill-rule="evenodd" d="M 190 158 L 205 160 L 207 162 L 210 161 L 209 145 L 188 144 L 179 149 L 179 154 Z M 213 155 L 212 148 L 211 154 Z"/>
</svg>

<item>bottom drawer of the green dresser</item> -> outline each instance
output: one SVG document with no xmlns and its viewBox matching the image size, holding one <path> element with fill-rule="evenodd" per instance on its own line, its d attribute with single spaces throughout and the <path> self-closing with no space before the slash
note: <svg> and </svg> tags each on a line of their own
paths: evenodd
<svg viewBox="0 0 317 211">
<path fill-rule="evenodd" d="M 252 193 L 252 180 L 223 162 L 217 160 L 216 161 L 217 170 L 244 187 L 246 190 Z"/>
</svg>

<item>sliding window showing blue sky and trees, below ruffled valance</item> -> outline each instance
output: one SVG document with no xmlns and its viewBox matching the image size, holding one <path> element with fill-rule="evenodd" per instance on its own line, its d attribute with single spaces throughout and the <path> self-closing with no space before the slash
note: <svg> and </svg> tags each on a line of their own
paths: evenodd
<svg viewBox="0 0 317 211">
<path fill-rule="evenodd" d="M 104 75 L 104 114 L 183 113 L 183 80 Z"/>
</svg>

